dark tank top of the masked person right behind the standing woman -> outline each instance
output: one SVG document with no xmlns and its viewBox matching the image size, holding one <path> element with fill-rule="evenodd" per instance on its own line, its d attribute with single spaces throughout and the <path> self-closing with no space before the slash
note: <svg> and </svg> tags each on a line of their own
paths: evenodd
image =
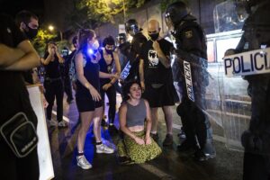
<svg viewBox="0 0 270 180">
<path fill-rule="evenodd" d="M 100 54 L 101 54 L 101 58 L 100 60 L 98 61 L 98 64 L 100 66 L 100 71 L 103 72 L 103 73 L 108 73 L 108 74 L 112 74 L 112 65 L 113 65 L 113 61 L 114 61 L 114 58 L 113 58 L 113 53 L 111 54 L 112 56 L 112 61 L 110 64 L 107 64 L 106 63 L 106 60 L 105 58 L 103 57 L 103 50 L 100 51 Z M 100 84 L 101 85 L 105 85 L 107 83 L 110 83 L 111 79 L 110 78 L 100 78 Z"/>
</svg>

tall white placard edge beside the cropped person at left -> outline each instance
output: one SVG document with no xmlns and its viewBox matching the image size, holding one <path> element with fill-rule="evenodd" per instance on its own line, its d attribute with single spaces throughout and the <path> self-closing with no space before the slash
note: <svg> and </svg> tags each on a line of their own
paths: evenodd
<svg viewBox="0 0 270 180">
<path fill-rule="evenodd" d="M 40 180 L 49 180 L 54 177 L 52 159 L 49 148 L 49 136 L 47 123 L 41 101 L 40 88 L 38 85 L 28 86 L 31 107 L 38 117 L 37 133 L 39 137 L 38 156 L 40 165 Z"/>
</svg>

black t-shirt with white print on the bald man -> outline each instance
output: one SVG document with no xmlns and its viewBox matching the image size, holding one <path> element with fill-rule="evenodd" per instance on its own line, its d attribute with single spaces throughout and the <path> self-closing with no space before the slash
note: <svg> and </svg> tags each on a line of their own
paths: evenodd
<svg viewBox="0 0 270 180">
<path fill-rule="evenodd" d="M 165 39 L 157 40 L 160 49 L 169 57 L 173 44 Z M 144 79 L 146 84 L 169 84 L 173 81 L 171 67 L 166 68 L 158 59 L 152 40 L 142 45 L 139 58 L 144 60 Z"/>
</svg>

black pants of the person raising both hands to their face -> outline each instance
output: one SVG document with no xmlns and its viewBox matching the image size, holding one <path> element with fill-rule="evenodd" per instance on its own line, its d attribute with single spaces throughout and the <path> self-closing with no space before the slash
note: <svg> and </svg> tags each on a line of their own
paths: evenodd
<svg viewBox="0 0 270 180">
<path fill-rule="evenodd" d="M 63 120 L 63 97 L 64 97 L 62 80 L 56 80 L 52 82 L 45 80 L 44 87 L 45 87 L 45 97 L 46 97 L 47 102 L 49 103 L 46 109 L 47 119 L 51 120 L 52 106 L 56 97 L 57 119 L 58 121 L 62 121 Z"/>
</svg>

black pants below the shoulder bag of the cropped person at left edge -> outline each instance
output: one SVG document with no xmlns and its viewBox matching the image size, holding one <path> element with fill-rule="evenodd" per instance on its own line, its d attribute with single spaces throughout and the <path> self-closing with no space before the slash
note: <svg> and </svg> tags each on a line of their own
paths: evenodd
<svg viewBox="0 0 270 180">
<path fill-rule="evenodd" d="M 40 176 L 37 148 L 27 157 L 15 157 L 11 148 L 0 140 L 1 173 L 0 179 L 38 180 Z"/>
</svg>

